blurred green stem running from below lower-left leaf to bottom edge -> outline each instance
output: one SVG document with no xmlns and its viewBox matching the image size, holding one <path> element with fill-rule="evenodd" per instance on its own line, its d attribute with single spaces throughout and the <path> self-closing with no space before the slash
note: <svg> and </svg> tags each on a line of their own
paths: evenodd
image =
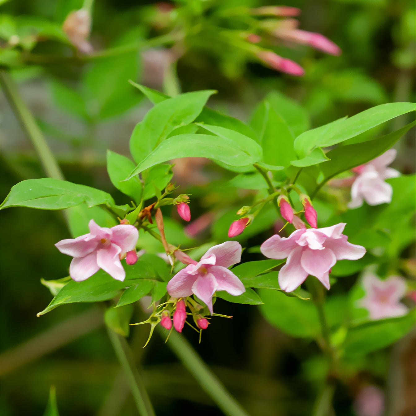
<svg viewBox="0 0 416 416">
<path fill-rule="evenodd" d="M 133 394 L 139 414 L 141 416 L 155 416 L 149 396 L 147 395 L 147 391 L 144 387 L 144 382 L 136 369 L 136 365 L 134 364 L 129 344 L 127 344 L 124 337 L 121 337 L 121 335 L 117 334 L 108 327 L 107 332 L 111 344 L 113 345 L 114 352 L 116 353 L 121 367 L 126 374 L 131 394 Z"/>
</svg>

